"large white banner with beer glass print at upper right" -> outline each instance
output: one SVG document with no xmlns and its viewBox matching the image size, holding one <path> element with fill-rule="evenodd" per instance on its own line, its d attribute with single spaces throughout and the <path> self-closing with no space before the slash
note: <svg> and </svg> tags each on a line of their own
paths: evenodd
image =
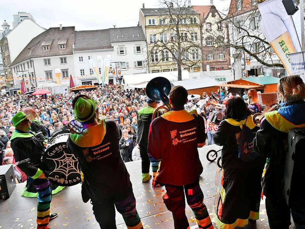
<svg viewBox="0 0 305 229">
<path fill-rule="evenodd" d="M 301 51 L 298 38 L 301 33 L 300 13 L 289 16 L 280 0 L 268 0 L 257 7 L 261 14 L 260 30 L 291 75 L 289 54 Z"/>
</svg>

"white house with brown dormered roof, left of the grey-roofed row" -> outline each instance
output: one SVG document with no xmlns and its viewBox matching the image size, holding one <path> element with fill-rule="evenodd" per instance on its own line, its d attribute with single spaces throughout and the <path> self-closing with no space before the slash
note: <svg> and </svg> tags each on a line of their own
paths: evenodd
<svg viewBox="0 0 305 229">
<path fill-rule="evenodd" d="M 69 85 L 70 75 L 75 76 L 74 27 L 49 28 L 33 38 L 10 65 L 15 85 L 23 77 L 26 88 L 49 88 Z M 56 82 L 55 69 L 61 69 L 61 84 Z M 23 71 L 19 72 L 18 71 Z"/>
</svg>

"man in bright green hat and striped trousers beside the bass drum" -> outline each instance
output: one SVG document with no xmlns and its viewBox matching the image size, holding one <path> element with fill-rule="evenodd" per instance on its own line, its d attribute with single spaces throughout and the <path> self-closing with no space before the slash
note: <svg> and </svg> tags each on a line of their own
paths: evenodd
<svg viewBox="0 0 305 229">
<path fill-rule="evenodd" d="M 28 182 L 33 182 L 38 191 L 37 205 L 37 228 L 48 229 L 50 219 L 54 219 L 57 213 L 50 215 L 51 188 L 50 182 L 41 170 L 41 156 L 45 147 L 31 131 L 30 115 L 19 111 L 12 118 L 13 126 L 16 127 L 10 138 L 14 152 L 16 165 L 28 176 Z"/>
</svg>

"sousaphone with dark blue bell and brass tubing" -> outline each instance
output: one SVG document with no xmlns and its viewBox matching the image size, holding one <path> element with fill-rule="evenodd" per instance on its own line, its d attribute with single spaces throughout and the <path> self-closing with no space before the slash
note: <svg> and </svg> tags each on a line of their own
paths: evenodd
<svg viewBox="0 0 305 229">
<path fill-rule="evenodd" d="M 146 95 L 151 100 L 162 101 L 163 106 L 157 107 L 152 114 L 152 120 L 159 117 L 160 113 L 165 114 L 170 111 L 170 104 L 168 95 L 170 93 L 170 89 L 172 85 L 167 78 L 164 77 L 156 77 L 151 79 L 146 85 Z M 162 111 L 160 111 L 162 110 Z"/>
</svg>

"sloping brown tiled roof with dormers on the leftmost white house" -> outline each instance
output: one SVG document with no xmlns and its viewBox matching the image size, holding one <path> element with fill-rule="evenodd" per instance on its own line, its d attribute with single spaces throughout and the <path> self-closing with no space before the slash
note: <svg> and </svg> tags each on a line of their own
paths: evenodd
<svg viewBox="0 0 305 229">
<path fill-rule="evenodd" d="M 48 30 L 34 37 L 27 44 L 27 46 L 25 46 L 21 53 L 19 53 L 10 66 L 18 64 L 29 58 L 73 54 L 74 30 L 74 26 L 63 27 L 62 30 L 59 30 L 59 27 L 49 28 Z M 67 38 L 65 49 L 59 49 L 59 45 L 57 44 L 61 38 Z M 43 50 L 42 44 L 44 44 L 44 42 L 50 43 L 49 50 L 47 51 Z M 31 49 L 31 53 L 29 52 L 29 49 Z"/>
</svg>

